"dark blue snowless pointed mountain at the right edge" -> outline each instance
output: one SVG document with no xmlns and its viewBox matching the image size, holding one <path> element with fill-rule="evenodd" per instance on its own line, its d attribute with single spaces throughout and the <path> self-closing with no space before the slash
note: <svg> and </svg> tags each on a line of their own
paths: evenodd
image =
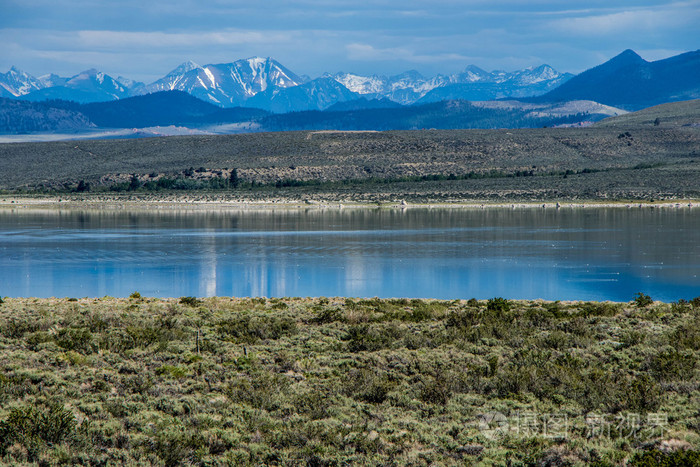
<svg viewBox="0 0 700 467">
<path fill-rule="evenodd" d="M 647 62 L 632 50 L 571 78 L 537 102 L 592 100 L 626 110 L 700 97 L 700 50 Z"/>
</svg>

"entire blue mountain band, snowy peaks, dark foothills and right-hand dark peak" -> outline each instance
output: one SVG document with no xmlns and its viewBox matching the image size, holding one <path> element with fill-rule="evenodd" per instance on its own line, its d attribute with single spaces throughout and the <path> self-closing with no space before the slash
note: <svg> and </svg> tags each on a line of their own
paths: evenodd
<svg viewBox="0 0 700 467">
<path fill-rule="evenodd" d="M 513 73 L 468 66 L 433 78 L 409 71 L 310 79 L 271 58 L 253 58 L 186 62 L 147 85 L 96 70 L 35 78 L 13 67 L 0 74 L 0 133 L 578 125 L 693 98 L 700 98 L 700 51 L 647 62 L 626 50 L 578 76 L 542 65 Z"/>
</svg>

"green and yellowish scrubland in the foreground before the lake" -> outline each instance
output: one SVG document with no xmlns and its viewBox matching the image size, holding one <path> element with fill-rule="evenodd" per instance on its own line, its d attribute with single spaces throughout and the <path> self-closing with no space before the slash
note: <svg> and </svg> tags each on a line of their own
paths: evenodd
<svg viewBox="0 0 700 467">
<path fill-rule="evenodd" d="M 6 298 L 0 354 L 8 464 L 700 460 L 700 298 Z"/>
</svg>

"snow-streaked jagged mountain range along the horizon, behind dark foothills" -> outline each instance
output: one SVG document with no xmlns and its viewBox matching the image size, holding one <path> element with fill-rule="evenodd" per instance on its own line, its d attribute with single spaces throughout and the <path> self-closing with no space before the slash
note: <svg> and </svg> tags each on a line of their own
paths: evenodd
<svg viewBox="0 0 700 467">
<path fill-rule="evenodd" d="M 176 90 L 220 107 L 257 107 L 285 113 L 324 110 L 360 97 L 410 105 L 445 99 L 535 96 L 572 76 L 559 73 L 548 65 L 512 73 L 487 72 L 470 65 L 460 73 L 432 78 L 408 71 L 390 77 L 326 73 L 311 80 L 295 74 L 272 58 L 253 57 L 205 66 L 188 61 L 151 84 L 113 78 L 95 69 L 71 78 L 55 74 L 36 78 L 13 67 L 0 74 L 0 97 L 34 102 L 61 99 L 90 103 Z"/>
</svg>

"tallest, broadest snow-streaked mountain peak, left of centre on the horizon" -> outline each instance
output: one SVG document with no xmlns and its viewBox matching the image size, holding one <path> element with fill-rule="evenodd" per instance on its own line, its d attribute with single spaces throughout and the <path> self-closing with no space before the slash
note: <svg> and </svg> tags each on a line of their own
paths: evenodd
<svg viewBox="0 0 700 467">
<path fill-rule="evenodd" d="M 223 107 L 240 106 L 268 89 L 298 86 L 304 79 L 272 58 L 253 57 L 233 63 L 199 66 L 185 62 L 164 78 L 146 86 L 146 92 L 185 91 Z"/>
</svg>

